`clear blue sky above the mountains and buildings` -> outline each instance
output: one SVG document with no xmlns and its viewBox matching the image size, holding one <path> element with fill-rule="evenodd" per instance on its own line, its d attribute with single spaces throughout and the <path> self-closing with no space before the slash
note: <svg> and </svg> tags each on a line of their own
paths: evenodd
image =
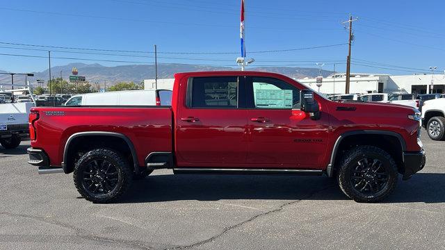
<svg viewBox="0 0 445 250">
<path fill-rule="evenodd" d="M 47 50 L 52 51 L 52 65 L 152 63 L 152 53 L 116 50 L 149 52 L 154 50 L 153 44 L 158 46 L 159 63 L 236 66 L 234 60 L 240 51 L 240 1 L 3 1 L 0 5 L 0 54 L 3 54 L 0 55 L 0 69 L 10 72 L 47 69 L 47 58 L 4 55 L 45 57 Z M 338 63 L 337 71 L 345 71 L 348 48 L 344 44 L 348 31 L 341 21 L 352 13 L 359 18 L 353 23 L 352 72 L 414 74 L 437 66 L 437 73 L 444 73 L 443 0 L 245 0 L 245 4 L 246 50 L 247 56 L 255 59 L 255 66 L 316 67 L 315 63 L 319 62 L 326 64 L 323 69 L 332 70 L 333 63 Z M 327 45 L 336 46 L 323 47 Z M 323 48 L 304 49 L 311 47 Z M 253 53 L 283 49 L 301 50 Z M 209 52 L 217 53 L 207 54 Z"/>
</svg>

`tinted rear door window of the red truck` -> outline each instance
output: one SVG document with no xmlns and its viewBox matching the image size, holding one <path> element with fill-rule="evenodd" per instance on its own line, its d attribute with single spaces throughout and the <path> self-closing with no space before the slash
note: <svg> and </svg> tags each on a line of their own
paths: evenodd
<svg viewBox="0 0 445 250">
<path fill-rule="evenodd" d="M 238 108 L 238 77 L 195 77 L 188 85 L 191 108 Z"/>
</svg>

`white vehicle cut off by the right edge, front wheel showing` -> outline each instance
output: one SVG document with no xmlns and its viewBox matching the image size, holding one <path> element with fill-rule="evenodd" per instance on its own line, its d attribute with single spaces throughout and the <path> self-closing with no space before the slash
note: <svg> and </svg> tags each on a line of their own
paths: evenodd
<svg viewBox="0 0 445 250">
<path fill-rule="evenodd" d="M 445 140 L 445 99 L 425 101 L 422 107 L 422 124 L 432 140 Z"/>
</svg>

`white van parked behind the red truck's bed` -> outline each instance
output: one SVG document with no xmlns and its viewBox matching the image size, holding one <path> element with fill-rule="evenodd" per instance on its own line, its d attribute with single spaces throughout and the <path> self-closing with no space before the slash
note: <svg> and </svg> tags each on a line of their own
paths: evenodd
<svg viewBox="0 0 445 250">
<path fill-rule="evenodd" d="M 171 106 L 171 90 L 128 90 L 79 94 L 65 106 Z"/>
</svg>

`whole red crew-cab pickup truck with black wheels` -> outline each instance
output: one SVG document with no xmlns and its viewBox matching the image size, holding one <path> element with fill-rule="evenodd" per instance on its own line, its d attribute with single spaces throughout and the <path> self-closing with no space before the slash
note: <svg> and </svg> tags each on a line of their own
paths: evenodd
<svg viewBox="0 0 445 250">
<path fill-rule="evenodd" d="M 88 201 L 118 199 L 154 169 L 175 174 L 326 174 L 379 201 L 425 165 L 420 113 L 330 101 L 266 72 L 175 74 L 172 106 L 33 108 L 29 163 L 74 172 Z"/>
</svg>

